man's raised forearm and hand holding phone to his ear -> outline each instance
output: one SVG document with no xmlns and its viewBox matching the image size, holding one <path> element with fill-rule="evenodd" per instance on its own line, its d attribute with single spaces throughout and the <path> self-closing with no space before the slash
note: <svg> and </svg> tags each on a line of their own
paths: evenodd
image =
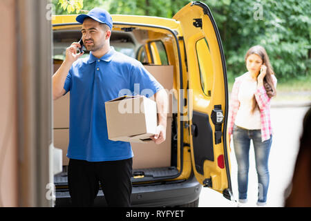
<svg viewBox="0 0 311 221">
<path fill-rule="evenodd" d="M 83 55 L 83 53 L 77 54 L 77 47 L 80 47 L 80 44 L 74 42 L 70 47 L 66 49 L 66 59 L 64 60 L 62 66 L 60 66 L 57 72 L 52 77 L 53 82 L 53 100 L 62 97 L 66 90 L 64 89 L 64 84 L 66 81 L 66 77 L 70 70 L 70 67 L 73 65 L 79 57 Z"/>
</svg>

